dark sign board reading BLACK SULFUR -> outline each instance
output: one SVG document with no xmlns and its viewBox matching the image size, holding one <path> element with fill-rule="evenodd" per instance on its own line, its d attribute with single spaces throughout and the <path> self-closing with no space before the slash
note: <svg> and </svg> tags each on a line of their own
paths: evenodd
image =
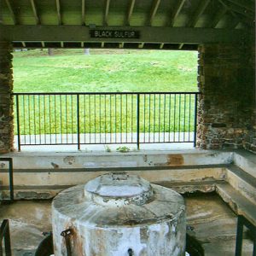
<svg viewBox="0 0 256 256">
<path fill-rule="evenodd" d="M 140 32 L 130 30 L 90 30 L 90 38 L 140 38 Z"/>
</svg>

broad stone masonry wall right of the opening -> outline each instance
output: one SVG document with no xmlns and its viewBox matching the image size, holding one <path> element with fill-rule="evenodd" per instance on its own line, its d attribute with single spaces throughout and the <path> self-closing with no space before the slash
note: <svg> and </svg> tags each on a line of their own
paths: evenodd
<svg viewBox="0 0 256 256">
<path fill-rule="evenodd" d="M 255 150 L 255 62 L 252 47 L 199 48 L 197 146 Z M 254 110 L 255 111 L 255 110 Z M 254 128 L 253 128 L 254 126 Z"/>
</svg>

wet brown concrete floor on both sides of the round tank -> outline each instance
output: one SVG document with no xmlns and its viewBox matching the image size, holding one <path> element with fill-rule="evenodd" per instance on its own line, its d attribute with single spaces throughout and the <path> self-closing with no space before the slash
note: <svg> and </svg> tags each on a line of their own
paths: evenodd
<svg viewBox="0 0 256 256">
<path fill-rule="evenodd" d="M 215 194 L 186 195 L 188 224 L 201 241 L 207 256 L 233 256 L 236 245 L 236 214 Z M 50 201 L 16 201 L 0 206 L 0 219 L 10 219 L 11 240 L 15 256 L 31 256 L 51 230 Z M 253 242 L 246 236 L 243 254 L 251 256 Z"/>
</svg>

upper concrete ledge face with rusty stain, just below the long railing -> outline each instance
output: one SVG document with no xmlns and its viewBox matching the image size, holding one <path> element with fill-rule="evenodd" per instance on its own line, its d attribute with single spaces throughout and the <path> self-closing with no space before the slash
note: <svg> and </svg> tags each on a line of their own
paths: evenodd
<svg viewBox="0 0 256 256">
<path fill-rule="evenodd" d="M 71 152 L 47 153 L 27 152 L 3 154 L 12 157 L 15 169 L 70 169 L 70 168 L 115 168 L 115 167 L 152 167 L 152 166 L 200 166 L 230 164 L 233 153 L 213 150 L 178 151 L 134 151 L 119 152 Z M 2 169 L 6 163 L 0 161 Z"/>
</svg>

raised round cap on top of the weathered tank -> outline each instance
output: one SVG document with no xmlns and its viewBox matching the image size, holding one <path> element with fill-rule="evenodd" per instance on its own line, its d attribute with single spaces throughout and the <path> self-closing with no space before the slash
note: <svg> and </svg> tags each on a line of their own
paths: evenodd
<svg viewBox="0 0 256 256">
<path fill-rule="evenodd" d="M 96 177 L 84 186 L 84 195 L 101 205 L 122 206 L 145 204 L 153 190 L 142 177 L 125 172 L 113 172 Z"/>
</svg>

